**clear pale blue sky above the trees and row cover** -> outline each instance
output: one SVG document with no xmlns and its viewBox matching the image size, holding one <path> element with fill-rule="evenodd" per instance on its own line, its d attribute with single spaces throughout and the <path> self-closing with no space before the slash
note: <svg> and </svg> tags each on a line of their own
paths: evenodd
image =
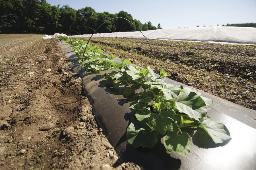
<svg viewBox="0 0 256 170">
<path fill-rule="evenodd" d="M 46 0 L 51 5 L 74 9 L 92 7 L 96 12 L 126 11 L 142 23 L 162 28 L 216 26 L 256 22 L 256 0 Z"/>
</svg>

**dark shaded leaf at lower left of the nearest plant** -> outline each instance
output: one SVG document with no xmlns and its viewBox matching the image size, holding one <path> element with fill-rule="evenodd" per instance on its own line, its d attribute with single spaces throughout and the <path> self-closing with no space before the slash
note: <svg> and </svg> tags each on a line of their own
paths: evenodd
<svg viewBox="0 0 256 170">
<path fill-rule="evenodd" d="M 138 148 L 139 146 L 142 146 L 143 148 L 152 148 L 153 146 L 155 146 L 157 143 L 157 135 L 159 132 L 139 127 L 141 126 L 137 122 L 131 123 L 128 126 L 126 134 L 127 142 L 131 144 L 131 146 L 133 146 L 134 148 Z"/>
</svg>

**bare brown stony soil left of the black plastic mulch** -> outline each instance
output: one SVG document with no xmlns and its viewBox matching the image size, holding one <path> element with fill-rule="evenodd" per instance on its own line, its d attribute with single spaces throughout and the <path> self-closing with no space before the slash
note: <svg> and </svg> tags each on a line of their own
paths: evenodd
<svg viewBox="0 0 256 170">
<path fill-rule="evenodd" d="M 0 35 L 0 169 L 140 169 L 118 158 L 55 39 Z"/>
</svg>

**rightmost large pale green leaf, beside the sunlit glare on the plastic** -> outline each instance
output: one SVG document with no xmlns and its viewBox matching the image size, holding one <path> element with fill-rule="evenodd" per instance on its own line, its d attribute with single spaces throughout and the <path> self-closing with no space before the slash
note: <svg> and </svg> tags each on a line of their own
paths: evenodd
<svg viewBox="0 0 256 170">
<path fill-rule="evenodd" d="M 222 123 L 214 122 L 208 116 L 201 119 L 199 127 L 203 128 L 216 144 L 231 139 L 227 127 Z"/>
</svg>

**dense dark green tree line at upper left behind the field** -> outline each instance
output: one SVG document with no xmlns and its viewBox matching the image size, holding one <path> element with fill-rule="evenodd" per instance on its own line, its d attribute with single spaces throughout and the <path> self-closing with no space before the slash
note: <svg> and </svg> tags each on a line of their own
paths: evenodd
<svg viewBox="0 0 256 170">
<path fill-rule="evenodd" d="M 68 5 L 51 6 L 46 0 L 0 0 L 0 33 L 53 34 L 68 31 L 76 26 L 96 29 L 103 22 L 115 17 L 126 18 L 143 31 L 161 28 L 160 24 L 156 27 L 150 21 L 143 24 L 125 11 L 115 14 L 96 13 L 91 7 L 75 10 Z M 111 20 L 97 30 L 98 33 L 119 31 L 138 30 L 121 18 Z M 92 34 L 93 30 L 78 27 L 69 33 Z"/>
</svg>

